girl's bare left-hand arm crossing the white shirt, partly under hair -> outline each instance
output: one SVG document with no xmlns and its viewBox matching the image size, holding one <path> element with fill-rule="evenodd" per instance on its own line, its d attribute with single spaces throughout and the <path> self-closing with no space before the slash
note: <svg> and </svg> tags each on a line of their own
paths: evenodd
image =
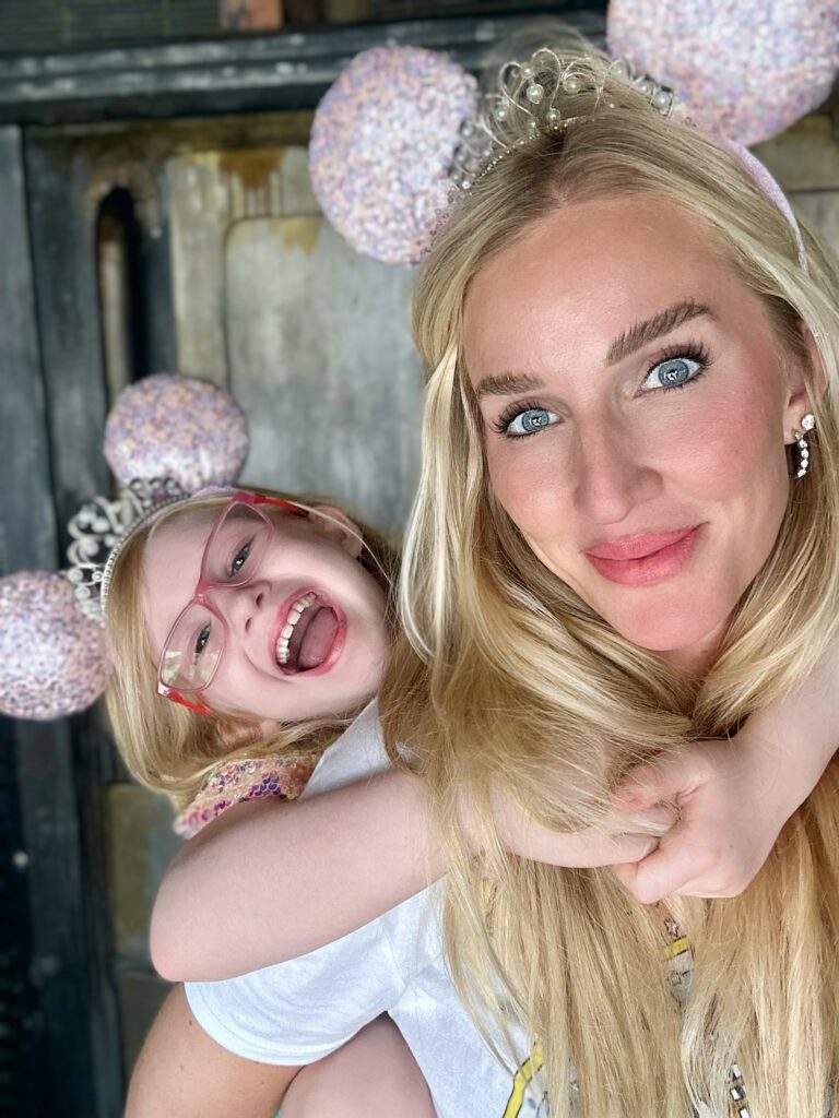
<svg viewBox="0 0 839 1118">
<path fill-rule="evenodd" d="M 653 812 L 648 830 L 657 821 L 663 830 L 672 816 Z M 656 844 L 649 834 L 546 831 L 501 797 L 497 822 L 510 851 L 557 865 L 629 862 Z M 238 804 L 167 871 L 152 915 L 152 960 L 173 982 L 229 978 L 332 942 L 444 872 L 424 786 L 403 773 L 293 803 Z"/>
</svg>

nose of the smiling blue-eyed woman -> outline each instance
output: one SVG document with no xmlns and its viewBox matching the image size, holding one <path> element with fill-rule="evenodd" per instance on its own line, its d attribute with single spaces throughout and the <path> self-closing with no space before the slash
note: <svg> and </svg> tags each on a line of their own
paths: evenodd
<svg viewBox="0 0 839 1118">
<path fill-rule="evenodd" d="M 581 428 L 574 453 L 575 503 L 595 523 L 620 523 L 661 487 L 643 439 L 618 424 Z"/>
</svg>

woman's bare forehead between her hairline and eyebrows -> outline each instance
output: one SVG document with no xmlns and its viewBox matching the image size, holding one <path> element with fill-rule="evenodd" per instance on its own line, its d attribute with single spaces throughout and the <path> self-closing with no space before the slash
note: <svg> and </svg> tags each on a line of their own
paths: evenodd
<svg viewBox="0 0 839 1118">
<path fill-rule="evenodd" d="M 470 376 L 541 363 L 543 350 L 609 351 L 637 323 L 691 301 L 748 293 L 710 231 L 660 199 L 578 202 L 535 222 L 475 276 L 466 299 Z M 593 354 L 592 354 L 593 356 Z M 513 364 L 511 364 L 513 362 Z M 500 368 L 494 368 L 499 366 Z"/>
</svg>

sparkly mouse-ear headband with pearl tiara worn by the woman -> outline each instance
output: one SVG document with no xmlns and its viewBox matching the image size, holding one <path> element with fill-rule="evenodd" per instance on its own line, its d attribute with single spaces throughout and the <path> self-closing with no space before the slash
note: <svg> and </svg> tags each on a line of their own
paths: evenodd
<svg viewBox="0 0 839 1118">
<path fill-rule="evenodd" d="M 835 0 L 613 0 L 607 40 L 610 53 L 626 59 L 612 76 L 648 92 L 666 115 L 678 89 L 685 113 L 743 163 L 790 222 L 805 266 L 789 202 L 743 144 L 774 135 L 827 97 L 839 70 Z M 475 79 L 434 51 L 379 47 L 358 55 L 312 127 L 310 173 L 324 216 L 360 253 L 390 264 L 422 259 L 452 206 L 477 173 L 503 158 L 509 141 L 564 126 L 550 115 L 559 112 L 550 91 L 531 79 L 545 60 L 536 51 L 508 64 L 498 89 L 481 98 Z M 571 66 L 554 70 L 566 94 L 591 94 Z"/>
</svg>

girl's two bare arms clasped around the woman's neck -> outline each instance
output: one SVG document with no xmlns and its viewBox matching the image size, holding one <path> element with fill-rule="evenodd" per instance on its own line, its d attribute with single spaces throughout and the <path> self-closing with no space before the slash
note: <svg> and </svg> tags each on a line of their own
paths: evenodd
<svg viewBox="0 0 839 1118">
<path fill-rule="evenodd" d="M 697 742 L 624 786 L 628 813 L 653 811 L 648 831 L 672 822 L 654 805 L 679 807 L 652 853 L 649 834 L 558 834 L 499 796 L 502 842 L 556 865 L 618 864 L 642 901 L 742 892 L 839 743 L 838 661 L 826 657 L 801 691 L 730 741 Z M 167 872 L 152 916 L 154 965 L 172 980 L 232 977 L 314 950 L 406 900 L 445 870 L 424 797 L 421 781 L 388 771 L 294 803 L 229 808 Z"/>
</svg>

